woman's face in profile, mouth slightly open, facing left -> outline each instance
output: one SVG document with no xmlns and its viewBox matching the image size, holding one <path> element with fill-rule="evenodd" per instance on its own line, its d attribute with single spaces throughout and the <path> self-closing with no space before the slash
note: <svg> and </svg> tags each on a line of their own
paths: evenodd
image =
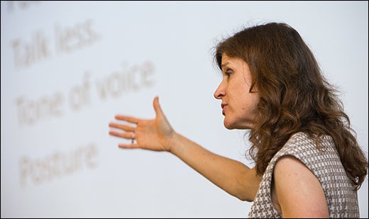
<svg viewBox="0 0 369 219">
<path fill-rule="evenodd" d="M 228 129 L 253 128 L 259 96 L 257 91 L 250 93 L 252 79 L 248 64 L 241 58 L 223 54 L 221 71 L 223 79 L 214 96 L 221 99 L 224 126 Z"/>
</svg>

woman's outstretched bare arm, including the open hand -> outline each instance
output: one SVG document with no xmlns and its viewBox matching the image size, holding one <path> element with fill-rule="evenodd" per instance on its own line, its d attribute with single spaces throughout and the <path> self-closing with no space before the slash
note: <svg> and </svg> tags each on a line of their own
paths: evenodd
<svg viewBox="0 0 369 219">
<path fill-rule="evenodd" d="M 129 140 L 132 133 L 135 133 L 137 142 L 119 144 L 119 147 L 171 152 L 232 196 L 243 201 L 253 201 L 261 180 L 261 177 L 256 175 L 255 169 L 250 169 L 236 160 L 216 155 L 176 133 L 165 118 L 158 97 L 155 97 L 153 106 L 156 117 L 152 120 L 117 115 L 117 120 L 131 124 L 109 123 L 111 128 L 119 129 L 110 130 L 110 135 Z"/>
</svg>

